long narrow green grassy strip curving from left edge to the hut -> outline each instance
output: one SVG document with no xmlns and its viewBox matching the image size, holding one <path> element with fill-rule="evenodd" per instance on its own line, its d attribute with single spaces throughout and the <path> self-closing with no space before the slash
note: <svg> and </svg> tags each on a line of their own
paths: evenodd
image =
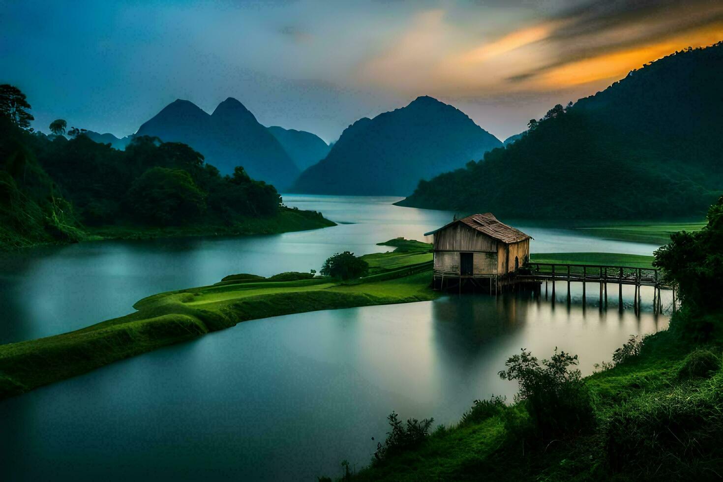
<svg viewBox="0 0 723 482">
<path fill-rule="evenodd" d="M 370 255 L 374 274 L 363 280 L 242 280 L 160 293 L 138 301 L 138 311 L 125 317 L 2 345 L 0 398 L 249 319 L 431 300 L 436 296 L 429 288 L 431 264 L 419 262 L 422 250 L 416 246 L 402 253 Z"/>
</svg>

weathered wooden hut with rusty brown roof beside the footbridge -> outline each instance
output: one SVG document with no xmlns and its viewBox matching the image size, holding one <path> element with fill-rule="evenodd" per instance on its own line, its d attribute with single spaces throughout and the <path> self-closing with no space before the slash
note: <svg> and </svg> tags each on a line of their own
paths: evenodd
<svg viewBox="0 0 723 482">
<path fill-rule="evenodd" d="M 491 212 L 455 220 L 435 235 L 435 281 L 438 277 L 496 278 L 514 272 L 530 256 L 530 236 Z"/>
</svg>

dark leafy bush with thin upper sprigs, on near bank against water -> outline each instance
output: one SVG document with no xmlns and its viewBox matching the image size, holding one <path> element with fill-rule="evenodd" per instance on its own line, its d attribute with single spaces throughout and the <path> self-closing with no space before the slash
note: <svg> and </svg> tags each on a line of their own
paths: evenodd
<svg viewBox="0 0 723 482">
<path fill-rule="evenodd" d="M 580 370 L 568 369 L 578 364 L 578 356 L 560 350 L 549 360 L 537 358 L 524 348 L 521 354 L 505 363 L 507 371 L 500 378 L 518 380 L 520 391 L 515 400 L 526 405 L 537 435 L 542 439 L 581 431 L 594 424 L 589 390 Z"/>
</svg>

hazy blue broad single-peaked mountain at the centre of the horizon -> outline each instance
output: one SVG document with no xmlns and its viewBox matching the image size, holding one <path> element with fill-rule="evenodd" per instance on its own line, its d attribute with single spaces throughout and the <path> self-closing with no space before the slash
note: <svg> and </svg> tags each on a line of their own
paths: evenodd
<svg viewBox="0 0 723 482">
<path fill-rule="evenodd" d="M 359 119 L 327 157 L 301 173 L 294 192 L 408 194 L 419 179 L 461 168 L 502 145 L 465 113 L 431 97 Z"/>
</svg>

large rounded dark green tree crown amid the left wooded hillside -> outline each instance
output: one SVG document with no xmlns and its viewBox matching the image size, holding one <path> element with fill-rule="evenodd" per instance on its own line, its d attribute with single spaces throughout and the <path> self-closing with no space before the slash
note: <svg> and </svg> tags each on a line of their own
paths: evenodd
<svg viewBox="0 0 723 482">
<path fill-rule="evenodd" d="M 204 198 L 191 175 L 181 169 L 150 168 L 128 191 L 138 218 L 158 225 L 189 223 L 205 211 Z"/>
</svg>

